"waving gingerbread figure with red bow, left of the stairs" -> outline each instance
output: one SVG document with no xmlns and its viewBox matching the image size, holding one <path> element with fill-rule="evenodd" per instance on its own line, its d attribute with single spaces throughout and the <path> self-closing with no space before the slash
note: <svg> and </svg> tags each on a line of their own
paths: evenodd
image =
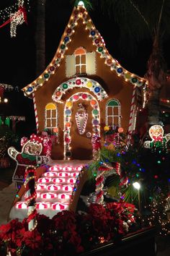
<svg viewBox="0 0 170 256">
<path fill-rule="evenodd" d="M 24 171 L 27 166 L 37 166 L 50 161 L 51 140 L 48 135 L 31 135 L 30 140 L 23 137 L 21 140 L 22 151 L 14 147 L 8 149 L 9 156 L 17 162 L 12 176 L 16 184 L 23 184 Z"/>
</svg>

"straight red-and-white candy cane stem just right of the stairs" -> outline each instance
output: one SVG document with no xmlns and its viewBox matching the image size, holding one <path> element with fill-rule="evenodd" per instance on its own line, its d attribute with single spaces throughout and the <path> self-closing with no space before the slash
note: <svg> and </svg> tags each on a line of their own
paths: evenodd
<svg viewBox="0 0 170 256">
<path fill-rule="evenodd" d="M 104 187 L 104 171 L 97 171 L 97 177 L 96 177 L 96 202 L 102 205 L 104 197 L 103 197 L 103 187 Z"/>
</svg>

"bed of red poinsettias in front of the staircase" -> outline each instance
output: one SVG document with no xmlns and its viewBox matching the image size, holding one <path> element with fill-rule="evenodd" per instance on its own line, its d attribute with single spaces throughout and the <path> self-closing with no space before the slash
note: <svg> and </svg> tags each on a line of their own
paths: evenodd
<svg viewBox="0 0 170 256">
<path fill-rule="evenodd" d="M 52 219 L 37 215 L 37 228 L 28 231 L 27 219 L 0 227 L 0 255 L 79 255 L 103 242 L 116 242 L 135 227 L 137 210 L 126 202 L 93 203 L 87 213 L 63 210 Z"/>
</svg>

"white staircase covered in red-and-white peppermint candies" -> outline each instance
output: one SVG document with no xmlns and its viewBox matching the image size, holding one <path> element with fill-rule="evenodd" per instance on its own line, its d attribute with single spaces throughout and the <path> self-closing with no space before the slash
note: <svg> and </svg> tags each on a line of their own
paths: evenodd
<svg viewBox="0 0 170 256">
<path fill-rule="evenodd" d="M 37 180 L 37 213 L 52 218 L 61 210 L 68 210 L 73 189 L 76 189 L 76 179 L 80 174 L 82 164 L 58 164 L 50 166 L 48 171 Z M 77 181 L 78 182 L 78 181 Z M 27 205 L 22 200 L 17 202 L 9 213 L 9 218 L 27 218 Z"/>
</svg>

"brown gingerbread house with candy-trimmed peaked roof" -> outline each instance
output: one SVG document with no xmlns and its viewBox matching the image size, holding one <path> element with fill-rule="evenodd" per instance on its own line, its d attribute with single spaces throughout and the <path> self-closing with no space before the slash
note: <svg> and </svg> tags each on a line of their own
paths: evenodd
<svg viewBox="0 0 170 256">
<path fill-rule="evenodd" d="M 53 60 L 22 90 L 33 98 L 37 132 L 55 136 L 52 158 L 91 159 L 91 137 L 102 137 L 104 126 L 135 129 L 146 83 L 109 54 L 81 1 Z"/>
</svg>

